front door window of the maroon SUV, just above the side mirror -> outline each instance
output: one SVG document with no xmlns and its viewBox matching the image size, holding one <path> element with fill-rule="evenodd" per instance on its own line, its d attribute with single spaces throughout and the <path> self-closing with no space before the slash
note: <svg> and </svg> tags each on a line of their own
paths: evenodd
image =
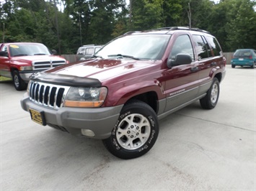
<svg viewBox="0 0 256 191">
<path fill-rule="evenodd" d="M 188 35 L 181 35 L 180 37 L 177 37 L 175 44 L 172 47 L 170 57 L 172 60 L 175 60 L 176 55 L 180 53 L 189 54 L 192 57 L 192 60 L 195 60 L 193 47 Z"/>
</svg>

